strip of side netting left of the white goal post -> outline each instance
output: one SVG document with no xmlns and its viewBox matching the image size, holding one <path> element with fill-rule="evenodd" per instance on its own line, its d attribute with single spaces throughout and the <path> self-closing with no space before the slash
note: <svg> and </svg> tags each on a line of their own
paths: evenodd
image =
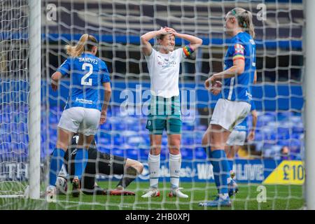
<svg viewBox="0 0 315 224">
<path fill-rule="evenodd" d="M 1 1 L 0 194 L 24 190 L 27 174 L 27 1 Z"/>
</svg>

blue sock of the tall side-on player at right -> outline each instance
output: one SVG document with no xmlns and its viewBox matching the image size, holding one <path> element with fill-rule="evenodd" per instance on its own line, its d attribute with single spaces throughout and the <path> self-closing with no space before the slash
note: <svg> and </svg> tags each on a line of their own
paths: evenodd
<svg viewBox="0 0 315 224">
<path fill-rule="evenodd" d="M 226 159 L 224 150 L 216 150 L 211 152 L 212 165 L 214 166 L 214 181 L 219 193 L 228 193 L 228 177 L 230 176 L 230 169 L 228 160 Z"/>
</svg>

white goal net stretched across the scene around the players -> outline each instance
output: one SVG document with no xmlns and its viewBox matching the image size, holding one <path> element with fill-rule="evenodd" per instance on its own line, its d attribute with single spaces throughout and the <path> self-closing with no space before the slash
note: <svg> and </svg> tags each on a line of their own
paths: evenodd
<svg viewBox="0 0 315 224">
<path fill-rule="evenodd" d="M 15 3 L 16 2 L 16 3 Z M 15 194 L 27 186 L 27 1 L 1 1 L 1 136 L 0 194 Z M 235 7 L 253 13 L 258 80 L 253 100 L 258 111 L 255 139 L 237 147 L 232 160 L 239 193 L 232 209 L 302 209 L 304 206 L 304 126 L 302 78 L 304 69 L 302 0 L 288 1 L 42 1 L 41 72 L 41 190 L 48 185 L 48 162 L 57 142 L 57 124 L 69 93 L 62 78 L 57 92 L 50 87 L 52 73 L 66 59 L 64 45 L 82 34 L 99 41 L 98 56 L 111 76 L 107 120 L 96 135 L 97 150 L 138 160 L 144 171 L 127 190 L 135 196 L 58 195 L 49 209 L 207 209 L 213 200 L 212 165 L 202 147 L 218 96 L 204 88 L 209 74 L 223 71 L 229 36 L 225 15 Z M 140 36 L 160 27 L 202 38 L 202 46 L 181 63 L 180 186 L 188 199 L 168 197 L 170 189 L 167 134 L 162 136 L 160 197 L 141 197 L 149 188 L 146 130 L 150 77 L 140 50 Z M 156 45 L 156 41 L 151 43 Z M 176 38 L 176 48 L 187 42 Z M 247 119 L 248 130 L 252 117 Z M 102 188 L 113 189 L 121 176 L 97 175 Z M 1 199 L 0 199 L 1 200 Z M 44 202 L 45 200 L 41 198 Z M 40 201 L 41 201 L 40 200 Z M 1 201 L 0 201 L 1 202 Z M 22 204 L 22 202 L 20 203 Z M 3 201 L 0 208 L 5 208 Z"/>
</svg>

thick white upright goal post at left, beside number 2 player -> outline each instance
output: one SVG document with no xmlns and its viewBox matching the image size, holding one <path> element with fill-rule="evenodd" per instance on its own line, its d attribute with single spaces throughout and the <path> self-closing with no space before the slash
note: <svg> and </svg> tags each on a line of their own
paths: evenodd
<svg viewBox="0 0 315 224">
<path fill-rule="evenodd" d="M 40 197 L 41 1 L 29 0 L 29 197 Z"/>
</svg>

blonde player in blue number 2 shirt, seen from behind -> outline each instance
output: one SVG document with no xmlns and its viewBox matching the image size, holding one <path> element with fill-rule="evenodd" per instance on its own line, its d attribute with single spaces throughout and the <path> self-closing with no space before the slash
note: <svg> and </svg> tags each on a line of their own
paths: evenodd
<svg viewBox="0 0 315 224">
<path fill-rule="evenodd" d="M 106 121 L 106 111 L 111 98 L 109 71 L 97 54 L 97 40 L 83 34 L 75 46 L 66 45 L 69 57 L 52 74 L 52 90 L 56 91 L 59 80 L 69 76 L 69 98 L 58 123 L 57 144 L 50 160 L 47 198 L 56 193 L 55 182 L 64 161 L 73 134 L 79 133 L 75 158 L 75 174 L 72 181 L 72 195 L 80 194 L 80 178 L 87 164 L 88 148 L 99 125 Z M 100 90 L 104 89 L 104 102 L 100 101 Z"/>
</svg>

